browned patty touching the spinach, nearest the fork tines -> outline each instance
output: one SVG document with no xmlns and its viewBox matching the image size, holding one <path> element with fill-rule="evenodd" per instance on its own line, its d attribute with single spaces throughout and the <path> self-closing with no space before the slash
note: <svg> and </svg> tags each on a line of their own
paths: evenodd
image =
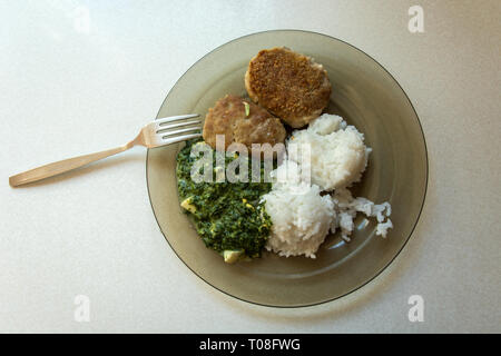
<svg viewBox="0 0 501 356">
<path fill-rule="evenodd" d="M 278 118 L 250 100 L 227 95 L 217 100 L 205 117 L 203 137 L 213 148 L 216 148 L 216 135 L 225 136 L 225 149 L 232 142 L 250 149 L 252 144 L 284 142 L 285 128 Z"/>
</svg>

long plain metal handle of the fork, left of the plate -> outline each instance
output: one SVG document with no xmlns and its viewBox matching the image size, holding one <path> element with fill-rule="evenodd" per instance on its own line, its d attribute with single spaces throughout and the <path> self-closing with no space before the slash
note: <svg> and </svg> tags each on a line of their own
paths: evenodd
<svg viewBox="0 0 501 356">
<path fill-rule="evenodd" d="M 40 166 L 38 168 L 33 168 L 33 169 L 23 171 L 21 174 L 18 174 L 16 176 L 9 177 L 9 185 L 11 187 L 18 187 L 18 186 L 22 186 L 22 185 L 26 185 L 29 182 L 37 181 L 37 180 L 57 176 L 57 175 L 63 174 L 66 171 L 86 166 L 96 160 L 124 152 L 124 151 L 128 150 L 129 148 L 131 148 L 134 145 L 135 145 L 135 141 L 130 141 L 127 145 L 124 145 L 124 146 L 120 146 L 117 148 L 112 148 L 112 149 L 108 149 L 106 151 L 78 156 L 78 157 L 73 157 L 73 158 L 59 160 L 57 162 L 48 164 L 45 166 Z"/>
</svg>

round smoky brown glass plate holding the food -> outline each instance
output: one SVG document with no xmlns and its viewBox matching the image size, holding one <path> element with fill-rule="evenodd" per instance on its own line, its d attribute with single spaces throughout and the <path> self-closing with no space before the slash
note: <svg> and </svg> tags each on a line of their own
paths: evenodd
<svg viewBox="0 0 501 356">
<path fill-rule="evenodd" d="M 177 81 L 158 118 L 203 116 L 226 93 L 245 95 L 244 73 L 261 49 L 288 47 L 322 63 L 333 85 L 328 112 L 338 113 L 365 135 L 372 147 L 362 182 L 352 190 L 380 204 L 390 201 L 394 228 L 375 235 L 374 219 L 355 219 L 352 241 L 327 237 L 317 258 L 264 253 L 250 263 L 227 265 L 205 247 L 179 207 L 176 155 L 180 145 L 148 150 L 149 199 L 158 225 L 177 256 L 206 283 L 235 298 L 266 306 L 298 307 L 344 296 L 377 276 L 410 238 L 424 204 L 428 157 L 411 101 L 374 59 L 335 38 L 306 31 L 259 32 L 220 46 Z M 183 144 L 184 145 L 184 144 Z"/>
</svg>

